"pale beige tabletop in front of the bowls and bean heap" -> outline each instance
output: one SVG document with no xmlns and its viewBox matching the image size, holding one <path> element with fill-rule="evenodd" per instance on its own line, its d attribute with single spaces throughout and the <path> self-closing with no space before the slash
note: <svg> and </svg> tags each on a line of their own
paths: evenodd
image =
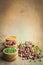
<svg viewBox="0 0 43 65">
<path fill-rule="evenodd" d="M 0 65 L 43 65 L 43 58 L 41 59 L 41 62 L 39 60 L 22 60 L 22 58 L 18 57 L 16 60 L 12 62 L 8 62 L 0 58 Z"/>
</svg>

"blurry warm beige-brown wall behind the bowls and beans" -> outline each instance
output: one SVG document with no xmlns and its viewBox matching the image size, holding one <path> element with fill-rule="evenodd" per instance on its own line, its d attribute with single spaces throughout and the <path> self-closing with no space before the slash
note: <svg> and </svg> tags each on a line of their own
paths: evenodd
<svg viewBox="0 0 43 65">
<path fill-rule="evenodd" d="M 43 47 L 43 0 L 0 0 L 0 35 L 38 41 Z"/>
</svg>

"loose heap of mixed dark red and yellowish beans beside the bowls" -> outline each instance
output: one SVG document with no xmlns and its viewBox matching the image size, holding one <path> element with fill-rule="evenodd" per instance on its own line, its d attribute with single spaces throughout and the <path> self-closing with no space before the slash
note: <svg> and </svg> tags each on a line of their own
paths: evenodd
<svg viewBox="0 0 43 65">
<path fill-rule="evenodd" d="M 18 46 L 18 55 L 24 59 L 39 59 L 41 58 L 41 50 L 38 46 L 26 41 Z"/>
</svg>

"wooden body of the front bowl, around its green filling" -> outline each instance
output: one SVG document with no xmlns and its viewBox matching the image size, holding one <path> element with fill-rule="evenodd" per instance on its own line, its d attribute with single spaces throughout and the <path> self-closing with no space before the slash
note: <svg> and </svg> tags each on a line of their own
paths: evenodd
<svg viewBox="0 0 43 65">
<path fill-rule="evenodd" d="M 13 60 L 17 59 L 18 51 L 16 51 L 15 53 L 6 53 L 5 50 L 6 50 L 6 48 L 3 50 L 3 58 L 5 60 L 13 61 Z"/>
</svg>

